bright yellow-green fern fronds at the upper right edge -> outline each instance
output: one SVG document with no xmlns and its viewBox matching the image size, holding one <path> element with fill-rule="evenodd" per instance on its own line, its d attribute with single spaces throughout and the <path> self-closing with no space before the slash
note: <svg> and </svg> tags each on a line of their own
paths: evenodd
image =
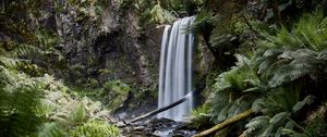
<svg viewBox="0 0 327 137">
<path fill-rule="evenodd" d="M 264 35 L 265 39 L 259 41 L 261 48 L 296 49 L 308 48 L 320 51 L 326 48 L 326 18 L 322 12 L 303 15 L 294 25 L 292 32 L 281 28 L 278 34 Z M 269 43 L 269 45 L 268 45 Z"/>
</svg>

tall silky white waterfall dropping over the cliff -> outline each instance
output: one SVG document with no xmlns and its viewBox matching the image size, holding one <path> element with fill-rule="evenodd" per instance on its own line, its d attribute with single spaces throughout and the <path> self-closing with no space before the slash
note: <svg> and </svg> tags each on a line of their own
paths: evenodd
<svg viewBox="0 0 327 137">
<path fill-rule="evenodd" d="M 186 27 L 195 17 L 185 17 L 167 25 L 162 35 L 158 108 L 169 105 L 181 99 L 192 90 L 192 50 L 194 35 L 186 32 Z M 183 121 L 189 116 L 193 107 L 192 96 L 182 104 L 158 114 L 158 117 L 167 117 Z"/>
</svg>

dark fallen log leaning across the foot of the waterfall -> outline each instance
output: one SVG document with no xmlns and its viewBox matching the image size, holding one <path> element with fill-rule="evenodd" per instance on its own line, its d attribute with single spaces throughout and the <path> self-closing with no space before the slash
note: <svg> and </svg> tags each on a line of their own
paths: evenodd
<svg viewBox="0 0 327 137">
<path fill-rule="evenodd" d="M 181 104 L 182 102 L 186 101 L 190 97 L 192 97 L 192 96 L 193 96 L 193 92 L 194 92 L 194 91 L 189 92 L 186 96 L 184 96 L 183 98 L 179 99 L 178 101 L 175 101 L 175 102 L 173 102 L 173 103 L 171 103 L 171 104 L 169 104 L 169 105 L 159 108 L 159 109 L 154 110 L 154 111 L 152 111 L 152 112 L 148 112 L 148 113 L 146 113 L 146 114 L 144 114 L 144 115 L 141 115 L 141 116 L 138 116 L 138 117 L 135 117 L 135 119 L 133 119 L 133 120 L 131 121 L 131 123 L 141 121 L 141 120 L 144 120 L 144 119 L 146 119 L 146 117 L 156 115 L 156 114 L 161 113 L 161 112 L 164 112 L 164 111 L 166 111 L 166 110 L 169 110 L 169 109 L 171 109 L 171 108 L 174 108 L 174 107 Z"/>
</svg>

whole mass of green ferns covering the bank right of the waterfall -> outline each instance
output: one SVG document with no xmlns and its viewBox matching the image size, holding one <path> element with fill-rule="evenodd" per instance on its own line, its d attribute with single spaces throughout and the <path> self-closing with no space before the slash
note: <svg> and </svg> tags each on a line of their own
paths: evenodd
<svg viewBox="0 0 327 137">
<path fill-rule="evenodd" d="M 319 11 L 304 14 L 290 28 L 257 34 L 255 46 L 235 55 L 235 65 L 216 78 L 206 114 L 215 123 L 249 109 L 255 115 L 217 135 L 238 127 L 244 137 L 327 136 L 326 21 Z"/>
</svg>

